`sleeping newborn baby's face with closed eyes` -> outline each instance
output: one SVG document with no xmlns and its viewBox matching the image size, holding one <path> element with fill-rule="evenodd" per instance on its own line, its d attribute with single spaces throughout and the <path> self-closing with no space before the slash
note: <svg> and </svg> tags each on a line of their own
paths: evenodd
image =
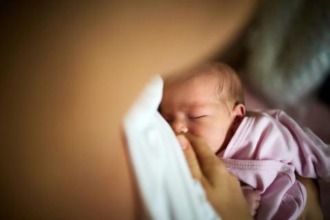
<svg viewBox="0 0 330 220">
<path fill-rule="evenodd" d="M 215 93 L 217 83 L 212 76 L 167 83 L 160 105 L 163 117 L 176 134 L 189 132 L 203 137 L 214 153 L 230 139 L 228 131 L 233 120 Z"/>
</svg>

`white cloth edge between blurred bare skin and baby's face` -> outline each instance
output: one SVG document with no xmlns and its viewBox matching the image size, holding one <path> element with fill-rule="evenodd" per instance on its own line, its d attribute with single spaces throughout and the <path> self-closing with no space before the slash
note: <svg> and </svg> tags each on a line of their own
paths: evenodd
<svg viewBox="0 0 330 220">
<path fill-rule="evenodd" d="M 220 219 L 192 179 L 172 129 L 157 108 L 163 81 L 155 76 L 124 118 L 124 132 L 144 206 L 151 219 Z"/>
</svg>

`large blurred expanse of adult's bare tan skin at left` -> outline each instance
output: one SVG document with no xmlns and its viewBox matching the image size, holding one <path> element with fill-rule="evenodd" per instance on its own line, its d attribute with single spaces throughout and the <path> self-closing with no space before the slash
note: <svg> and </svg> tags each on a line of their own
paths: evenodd
<svg viewBox="0 0 330 220">
<path fill-rule="evenodd" d="M 125 111 L 155 72 L 223 50 L 256 3 L 104 2 L 1 3 L 0 219 L 138 218 Z"/>
</svg>

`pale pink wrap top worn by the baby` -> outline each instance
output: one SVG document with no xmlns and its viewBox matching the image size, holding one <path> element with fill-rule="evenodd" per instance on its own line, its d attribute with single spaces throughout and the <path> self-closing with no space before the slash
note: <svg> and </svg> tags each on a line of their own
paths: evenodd
<svg viewBox="0 0 330 220">
<path fill-rule="evenodd" d="M 297 219 L 306 203 L 302 177 L 330 181 L 330 147 L 283 111 L 250 111 L 219 155 L 228 170 L 261 190 L 256 219 Z"/>
</svg>

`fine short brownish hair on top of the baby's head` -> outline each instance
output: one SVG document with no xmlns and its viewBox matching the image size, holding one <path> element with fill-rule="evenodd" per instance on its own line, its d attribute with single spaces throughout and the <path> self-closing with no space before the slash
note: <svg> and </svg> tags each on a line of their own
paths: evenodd
<svg viewBox="0 0 330 220">
<path fill-rule="evenodd" d="M 215 94 L 229 106 L 244 104 L 244 92 L 241 80 L 234 69 L 225 63 L 212 62 L 198 65 L 188 72 L 174 79 L 174 81 L 188 80 L 196 76 L 216 76 L 218 79 Z M 172 81 L 169 79 L 168 81 Z"/>
</svg>

